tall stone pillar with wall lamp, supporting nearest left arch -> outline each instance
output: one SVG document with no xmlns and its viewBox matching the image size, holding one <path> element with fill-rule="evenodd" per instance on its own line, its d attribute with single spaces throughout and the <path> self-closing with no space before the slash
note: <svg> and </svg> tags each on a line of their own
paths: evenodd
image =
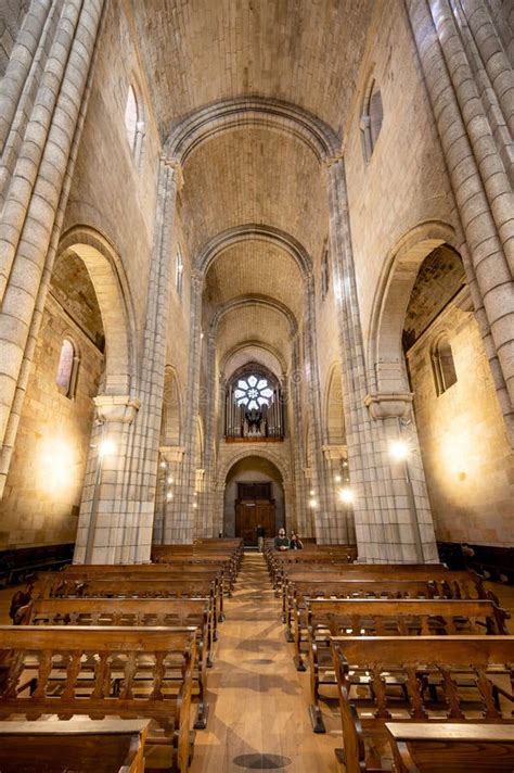
<svg viewBox="0 0 514 773">
<path fill-rule="evenodd" d="M 105 461 L 115 467 L 110 470 L 111 485 L 97 486 L 98 512 L 102 518 L 95 515 L 94 506 L 90 506 L 87 492 L 83 494 L 74 559 L 78 563 L 141 563 L 150 560 L 164 401 L 175 204 L 180 180 L 180 167 L 163 157 L 138 379 L 143 404 L 137 416 L 130 414 L 130 421 L 124 419 L 129 424 L 125 429 L 128 436 L 125 440 L 124 435 L 124 442 Z M 116 413 L 119 400 L 130 401 L 129 397 L 108 395 L 95 401 L 99 419 L 107 423 L 110 433 L 119 421 Z M 140 405 L 139 400 L 134 402 L 132 398 L 132 403 Z M 93 473 L 94 480 L 100 473 L 105 477 L 103 459 L 94 455 L 91 466 L 93 464 L 97 470 L 100 465 L 100 472 Z M 98 530 L 103 530 L 101 535 L 95 534 Z M 107 537 L 108 542 L 101 544 Z"/>
</svg>

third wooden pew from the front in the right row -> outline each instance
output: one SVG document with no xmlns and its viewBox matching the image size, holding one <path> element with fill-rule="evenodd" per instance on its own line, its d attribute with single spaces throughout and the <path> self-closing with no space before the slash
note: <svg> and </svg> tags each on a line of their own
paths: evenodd
<svg viewBox="0 0 514 773">
<path fill-rule="evenodd" d="M 308 632 L 309 713 L 314 733 L 325 732 L 319 707 L 320 685 L 335 684 L 331 637 L 509 633 L 506 612 L 485 599 L 307 599 L 301 614 Z M 299 648 L 295 663 L 305 671 Z"/>
</svg>

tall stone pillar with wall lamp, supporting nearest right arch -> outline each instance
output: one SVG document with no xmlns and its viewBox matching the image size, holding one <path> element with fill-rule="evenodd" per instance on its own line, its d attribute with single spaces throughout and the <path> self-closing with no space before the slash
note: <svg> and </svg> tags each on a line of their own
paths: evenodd
<svg viewBox="0 0 514 773">
<path fill-rule="evenodd" d="M 327 166 L 330 240 L 342 358 L 343 406 L 348 465 L 355 493 L 359 560 L 371 563 L 435 561 L 437 547 L 415 438 L 409 438 L 409 468 L 390 456 L 399 440 L 398 405 L 412 421 L 410 403 L 368 396 L 364 349 L 342 157 Z M 381 410 L 376 406 L 388 406 Z M 395 406 L 395 410 L 391 406 Z M 371 410 L 369 410 L 370 406 Z M 410 472 L 415 465 L 415 474 Z M 420 541 L 423 552 L 420 550 Z"/>
</svg>

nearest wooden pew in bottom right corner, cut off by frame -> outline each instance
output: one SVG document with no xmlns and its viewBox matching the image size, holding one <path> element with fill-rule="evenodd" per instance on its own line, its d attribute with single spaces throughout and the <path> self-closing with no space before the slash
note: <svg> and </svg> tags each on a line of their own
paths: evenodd
<svg viewBox="0 0 514 773">
<path fill-rule="evenodd" d="M 512 773 L 514 725 L 386 722 L 398 773 Z"/>
</svg>

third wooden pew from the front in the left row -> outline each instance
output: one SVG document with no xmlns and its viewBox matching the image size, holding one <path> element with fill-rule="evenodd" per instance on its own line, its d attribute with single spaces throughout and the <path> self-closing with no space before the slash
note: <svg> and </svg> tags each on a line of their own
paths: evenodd
<svg viewBox="0 0 514 773">
<path fill-rule="evenodd" d="M 207 725 L 206 669 L 213 664 L 211 609 L 208 598 L 49 598 L 23 607 L 17 625 L 134 625 L 196 628 L 196 660 L 193 680 L 197 685 L 198 708 L 195 730 Z"/>
</svg>

